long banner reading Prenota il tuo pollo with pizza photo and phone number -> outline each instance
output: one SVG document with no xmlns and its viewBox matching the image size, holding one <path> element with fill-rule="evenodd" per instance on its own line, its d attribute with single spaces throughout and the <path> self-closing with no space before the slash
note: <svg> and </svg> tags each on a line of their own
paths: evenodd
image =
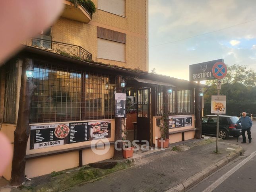
<svg viewBox="0 0 256 192">
<path fill-rule="evenodd" d="M 109 121 L 32 125 L 30 149 L 85 142 L 111 137 Z"/>
</svg>

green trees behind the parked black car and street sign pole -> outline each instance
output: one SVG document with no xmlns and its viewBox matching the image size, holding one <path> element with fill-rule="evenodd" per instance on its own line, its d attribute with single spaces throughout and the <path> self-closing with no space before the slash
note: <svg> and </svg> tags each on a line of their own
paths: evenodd
<svg viewBox="0 0 256 192">
<path fill-rule="evenodd" d="M 227 96 L 227 115 L 239 115 L 242 111 L 256 112 L 256 73 L 247 66 L 227 66 L 227 75 L 222 79 L 221 95 Z M 211 95 L 217 95 L 217 80 L 207 81 L 210 85 L 204 93 L 204 114 L 210 114 Z"/>
</svg>

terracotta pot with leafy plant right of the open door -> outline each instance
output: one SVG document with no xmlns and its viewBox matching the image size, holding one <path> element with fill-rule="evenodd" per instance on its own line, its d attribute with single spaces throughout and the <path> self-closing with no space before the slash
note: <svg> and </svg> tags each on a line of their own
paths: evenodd
<svg viewBox="0 0 256 192">
<path fill-rule="evenodd" d="M 169 127 L 168 127 L 166 118 L 168 120 L 169 118 L 168 115 L 163 114 L 160 120 L 160 126 L 158 126 L 161 133 L 161 138 L 157 139 L 157 147 L 163 147 L 163 148 L 169 147 L 170 139 L 166 139 L 166 133 L 169 132 Z"/>
</svg>

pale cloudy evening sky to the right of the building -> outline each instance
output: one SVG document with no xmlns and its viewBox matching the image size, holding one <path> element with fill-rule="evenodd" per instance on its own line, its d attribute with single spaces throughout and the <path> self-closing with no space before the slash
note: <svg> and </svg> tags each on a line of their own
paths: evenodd
<svg viewBox="0 0 256 192">
<path fill-rule="evenodd" d="M 149 0 L 149 72 L 189 80 L 221 58 L 256 71 L 255 0 Z"/>
</svg>

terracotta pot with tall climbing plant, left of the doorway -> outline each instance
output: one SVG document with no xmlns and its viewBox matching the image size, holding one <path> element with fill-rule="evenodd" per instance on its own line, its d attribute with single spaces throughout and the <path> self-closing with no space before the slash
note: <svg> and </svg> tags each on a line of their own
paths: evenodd
<svg viewBox="0 0 256 192">
<path fill-rule="evenodd" d="M 124 159 L 127 159 L 129 157 L 133 156 L 133 149 L 134 146 L 131 145 L 131 142 L 126 140 L 127 137 L 127 131 L 126 131 L 126 123 L 125 120 L 122 120 L 123 130 L 122 130 L 122 142 L 123 142 L 123 157 Z"/>
</svg>

